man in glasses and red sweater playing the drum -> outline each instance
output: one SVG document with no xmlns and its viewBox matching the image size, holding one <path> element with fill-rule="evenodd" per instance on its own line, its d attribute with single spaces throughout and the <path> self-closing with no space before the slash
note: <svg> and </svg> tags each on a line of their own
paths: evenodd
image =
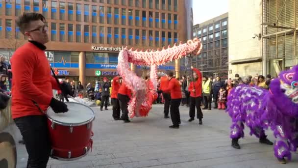
<svg viewBox="0 0 298 168">
<path fill-rule="evenodd" d="M 19 17 L 17 25 L 29 42 L 11 58 L 12 118 L 25 141 L 27 168 L 46 168 L 50 156 L 47 116 L 41 111 L 47 111 L 49 106 L 54 112 L 68 111 L 65 103 L 53 98 L 52 89 L 58 90 L 59 85 L 50 75 L 50 63 L 45 56 L 44 44 L 49 41 L 45 21 L 39 13 Z M 63 93 L 70 93 L 66 84 L 61 84 L 61 88 Z"/>
</svg>

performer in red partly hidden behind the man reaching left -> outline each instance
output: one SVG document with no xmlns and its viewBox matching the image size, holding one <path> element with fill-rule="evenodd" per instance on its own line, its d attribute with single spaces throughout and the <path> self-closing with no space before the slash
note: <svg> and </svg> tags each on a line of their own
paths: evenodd
<svg viewBox="0 0 298 168">
<path fill-rule="evenodd" d="M 169 79 L 167 76 L 163 76 L 160 78 L 160 88 L 159 90 L 164 90 L 169 86 Z M 169 109 L 170 109 L 170 101 L 171 96 L 170 92 L 162 92 L 162 96 L 165 99 L 165 105 L 164 105 L 164 114 L 165 118 L 169 118 Z"/>
</svg>

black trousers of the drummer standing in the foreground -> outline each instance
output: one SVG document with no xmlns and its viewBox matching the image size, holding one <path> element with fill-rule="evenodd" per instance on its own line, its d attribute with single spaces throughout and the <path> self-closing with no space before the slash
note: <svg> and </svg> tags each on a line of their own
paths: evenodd
<svg viewBox="0 0 298 168">
<path fill-rule="evenodd" d="M 25 141 L 29 155 L 27 168 L 46 168 L 50 157 L 47 116 L 30 115 L 14 119 Z"/>
</svg>

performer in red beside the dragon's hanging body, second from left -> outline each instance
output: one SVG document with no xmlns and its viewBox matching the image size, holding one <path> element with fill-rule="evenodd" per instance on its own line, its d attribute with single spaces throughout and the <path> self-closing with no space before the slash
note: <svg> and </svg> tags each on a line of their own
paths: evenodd
<svg viewBox="0 0 298 168">
<path fill-rule="evenodd" d="M 131 90 L 126 86 L 125 83 L 122 83 L 118 90 L 118 99 L 121 104 L 121 119 L 124 120 L 125 123 L 130 122 L 130 120 L 128 119 L 127 104 L 131 99 Z"/>
</svg>

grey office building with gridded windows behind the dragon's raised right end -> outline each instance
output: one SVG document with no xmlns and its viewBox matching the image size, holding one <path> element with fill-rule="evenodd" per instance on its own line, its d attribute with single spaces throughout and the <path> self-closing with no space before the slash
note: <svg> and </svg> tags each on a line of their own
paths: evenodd
<svg viewBox="0 0 298 168">
<path fill-rule="evenodd" d="M 192 66 L 203 75 L 220 76 L 228 74 L 228 13 L 210 19 L 193 27 L 193 36 L 203 45 L 202 52 L 192 57 Z"/>
</svg>

